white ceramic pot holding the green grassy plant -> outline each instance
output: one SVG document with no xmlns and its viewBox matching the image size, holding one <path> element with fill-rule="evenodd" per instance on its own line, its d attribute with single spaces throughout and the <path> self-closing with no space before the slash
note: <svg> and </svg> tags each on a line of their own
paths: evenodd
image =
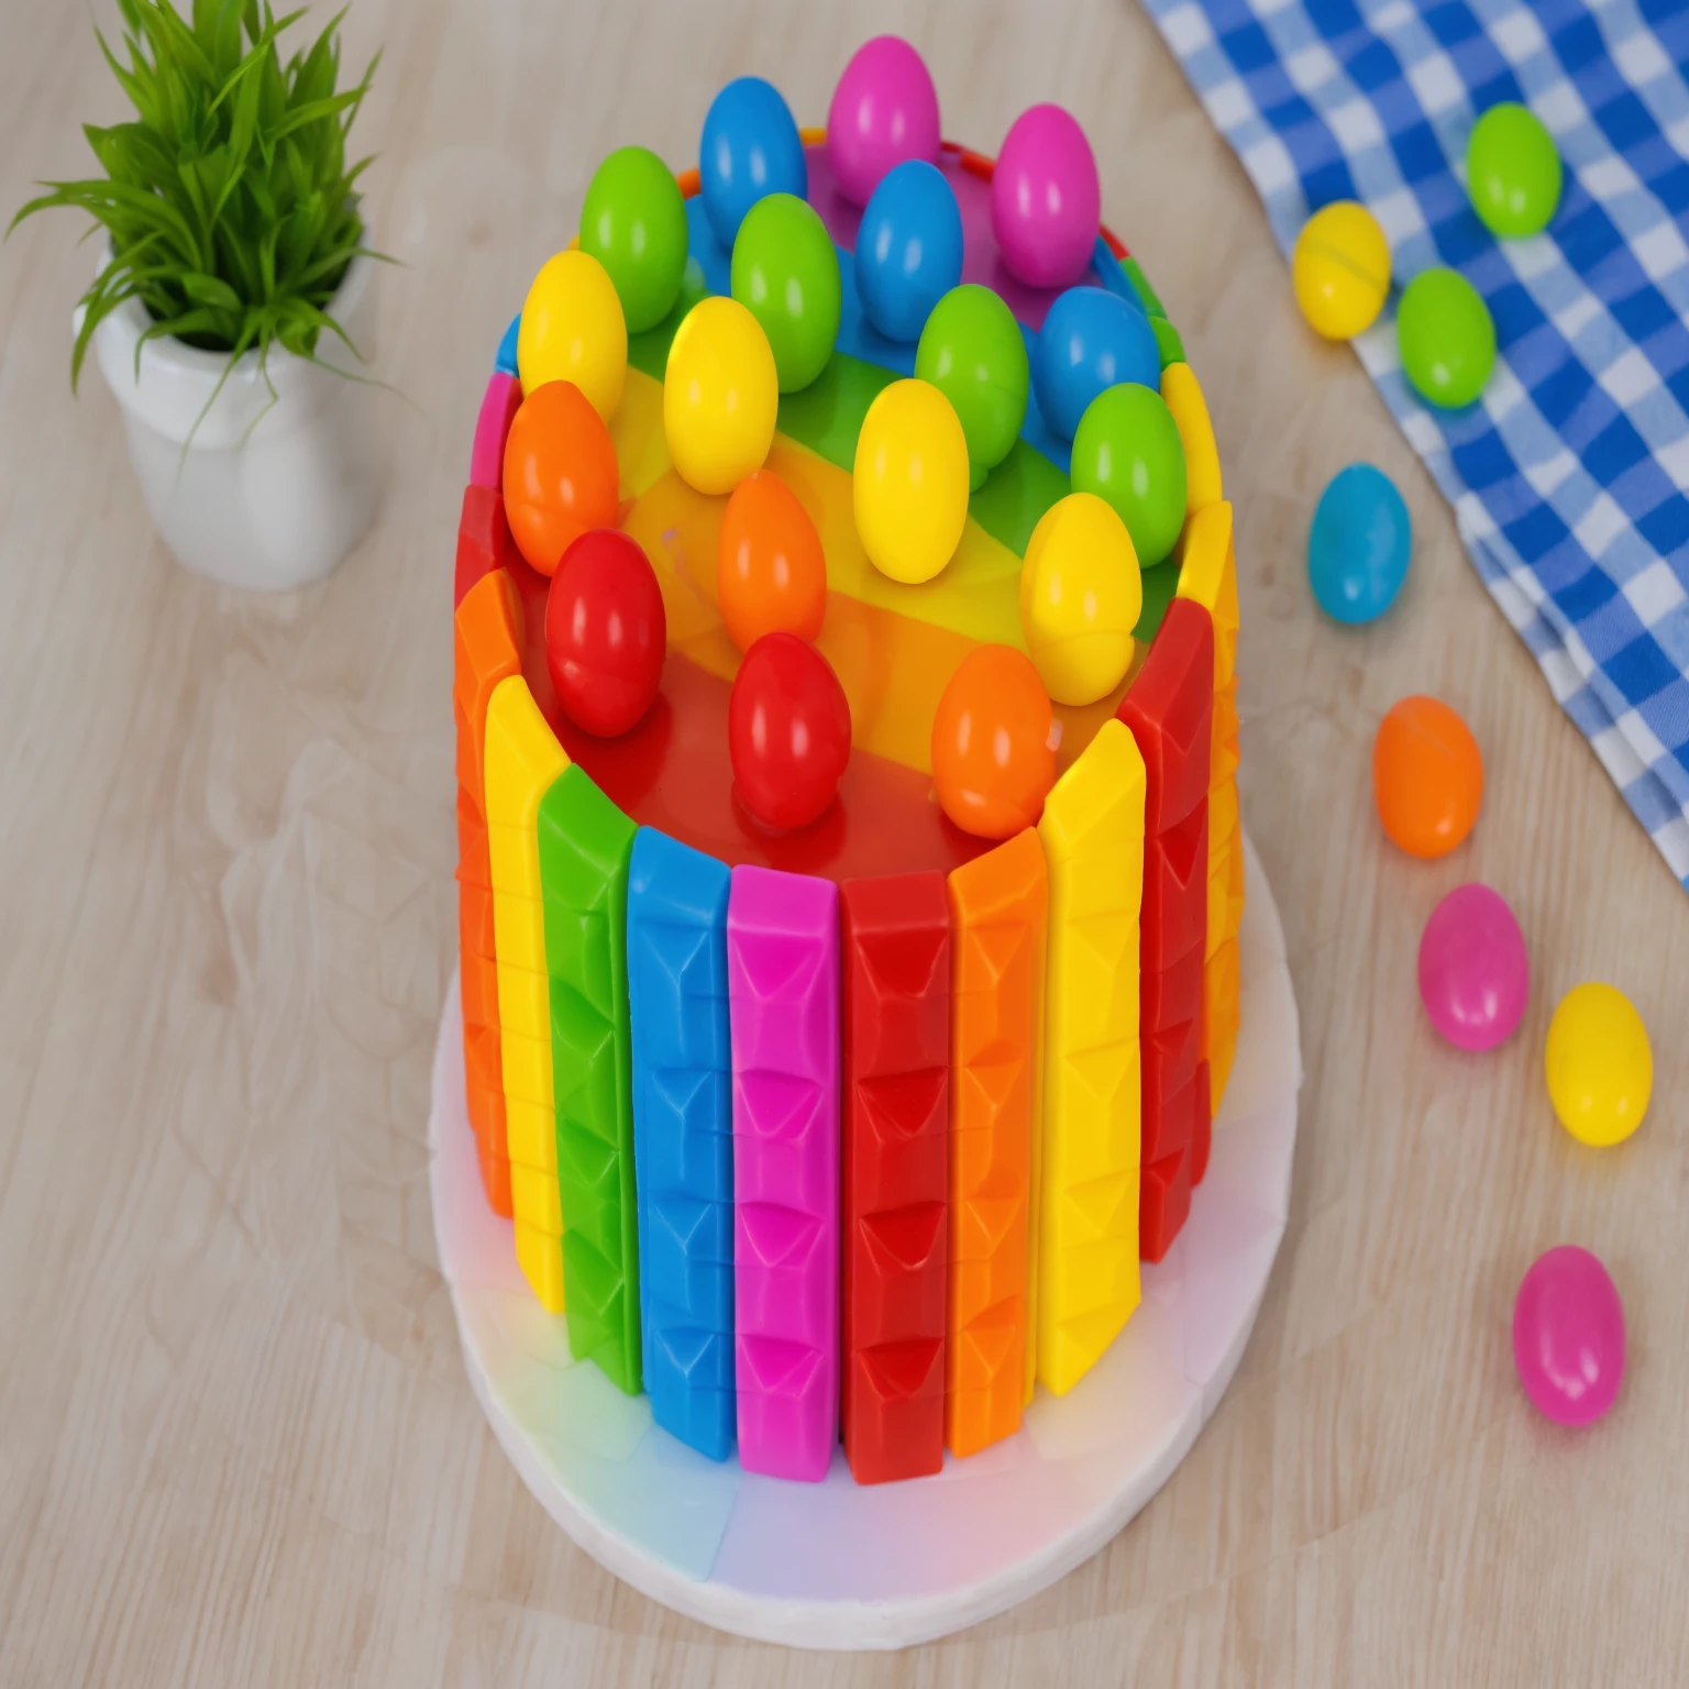
<svg viewBox="0 0 1689 1689">
<path fill-rule="evenodd" d="M 373 353 L 373 272 L 370 258 L 353 260 L 329 306 L 365 360 Z M 95 351 L 123 407 L 128 459 L 164 544 L 177 562 L 228 586 L 279 593 L 321 579 L 375 515 L 370 365 L 328 331 L 318 356 L 334 368 L 277 346 L 265 382 L 248 351 L 206 410 L 228 360 L 150 339 L 137 378 L 135 345 L 150 321 L 138 299 L 125 301 L 95 331 Z"/>
</svg>

